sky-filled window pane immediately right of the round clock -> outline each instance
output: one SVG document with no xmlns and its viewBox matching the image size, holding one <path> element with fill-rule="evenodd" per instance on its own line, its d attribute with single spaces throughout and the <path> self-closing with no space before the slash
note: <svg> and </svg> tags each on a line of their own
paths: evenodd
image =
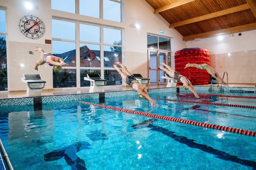
<svg viewBox="0 0 256 170">
<path fill-rule="evenodd" d="M 52 19 L 52 38 L 76 40 L 76 23 Z"/>
</svg>

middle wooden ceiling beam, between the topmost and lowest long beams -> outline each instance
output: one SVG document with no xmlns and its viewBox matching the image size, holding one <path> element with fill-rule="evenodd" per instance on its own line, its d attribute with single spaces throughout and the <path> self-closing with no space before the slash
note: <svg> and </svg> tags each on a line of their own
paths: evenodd
<svg viewBox="0 0 256 170">
<path fill-rule="evenodd" d="M 249 1 L 249 0 L 247 0 L 247 1 Z M 229 8 L 229 9 L 214 12 L 214 13 L 211 13 L 211 14 L 203 15 L 203 16 L 200 16 L 200 17 L 191 18 L 191 19 L 188 19 L 188 20 L 173 23 L 173 24 L 169 25 L 169 28 L 178 27 L 178 26 L 182 26 L 182 25 L 186 25 L 186 24 L 191 24 L 191 23 L 195 23 L 195 22 L 198 22 L 198 21 L 208 20 L 208 19 L 211 19 L 211 18 L 231 14 L 231 13 L 238 12 L 238 11 L 243 11 L 243 10 L 246 10 L 246 9 L 250 9 L 249 5 L 248 4 L 243 4 L 243 5 L 233 7 L 233 8 Z"/>
</svg>

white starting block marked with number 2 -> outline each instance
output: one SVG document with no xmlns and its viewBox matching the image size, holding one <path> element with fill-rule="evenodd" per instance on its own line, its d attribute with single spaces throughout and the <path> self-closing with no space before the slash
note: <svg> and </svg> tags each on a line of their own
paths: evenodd
<svg viewBox="0 0 256 170">
<path fill-rule="evenodd" d="M 102 87 L 106 86 L 107 81 L 100 77 L 99 74 L 87 74 L 87 77 L 84 77 L 84 80 L 90 81 L 90 93 L 93 92 L 102 92 Z"/>
</svg>

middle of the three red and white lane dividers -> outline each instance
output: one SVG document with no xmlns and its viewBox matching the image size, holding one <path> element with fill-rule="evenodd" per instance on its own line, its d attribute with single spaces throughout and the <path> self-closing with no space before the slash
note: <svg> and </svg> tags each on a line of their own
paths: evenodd
<svg viewBox="0 0 256 170">
<path fill-rule="evenodd" d="M 198 102 L 198 101 L 177 100 L 177 99 L 162 99 L 162 98 L 154 98 L 154 97 L 152 97 L 152 99 L 168 100 L 168 101 L 172 101 L 172 102 L 199 103 L 199 104 L 206 104 L 206 105 L 218 105 L 218 106 L 230 106 L 230 107 L 240 107 L 240 108 L 256 109 L 256 106 L 246 106 L 246 105 L 233 105 L 233 104 L 212 103 L 212 102 Z"/>
</svg>

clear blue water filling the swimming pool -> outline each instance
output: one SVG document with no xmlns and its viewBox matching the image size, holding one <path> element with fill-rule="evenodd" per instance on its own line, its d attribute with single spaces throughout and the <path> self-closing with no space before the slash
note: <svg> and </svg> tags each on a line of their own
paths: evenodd
<svg viewBox="0 0 256 170">
<path fill-rule="evenodd" d="M 240 95 L 232 93 L 226 95 Z M 246 94 L 249 96 L 254 94 Z M 174 93 L 156 98 L 256 106 L 256 99 Z M 81 100 L 99 103 L 97 99 Z M 104 105 L 256 130 L 256 109 L 155 100 L 106 98 Z M 0 137 L 14 169 L 256 168 L 256 137 L 90 106 L 75 101 L 1 109 Z"/>
</svg>

